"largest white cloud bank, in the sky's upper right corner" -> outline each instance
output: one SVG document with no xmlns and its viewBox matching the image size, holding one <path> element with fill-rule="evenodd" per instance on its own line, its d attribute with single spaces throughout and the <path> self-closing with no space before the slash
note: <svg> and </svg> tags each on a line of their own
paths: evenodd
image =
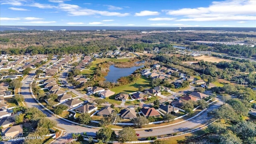
<svg viewBox="0 0 256 144">
<path fill-rule="evenodd" d="M 208 7 L 162 10 L 168 15 L 184 16 L 176 21 L 239 21 L 255 20 L 255 0 L 226 0 L 212 2 Z"/>
</svg>

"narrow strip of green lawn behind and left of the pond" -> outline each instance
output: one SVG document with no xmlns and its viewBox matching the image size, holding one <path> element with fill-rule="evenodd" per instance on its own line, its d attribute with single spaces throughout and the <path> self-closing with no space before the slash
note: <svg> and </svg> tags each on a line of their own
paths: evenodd
<svg viewBox="0 0 256 144">
<path fill-rule="evenodd" d="M 113 61 L 113 62 L 128 62 L 130 58 L 97 58 L 95 61 L 92 62 L 92 65 L 89 70 L 82 70 L 81 74 L 94 74 L 94 70 L 96 70 L 97 66 L 101 62 L 105 61 Z"/>
</svg>

